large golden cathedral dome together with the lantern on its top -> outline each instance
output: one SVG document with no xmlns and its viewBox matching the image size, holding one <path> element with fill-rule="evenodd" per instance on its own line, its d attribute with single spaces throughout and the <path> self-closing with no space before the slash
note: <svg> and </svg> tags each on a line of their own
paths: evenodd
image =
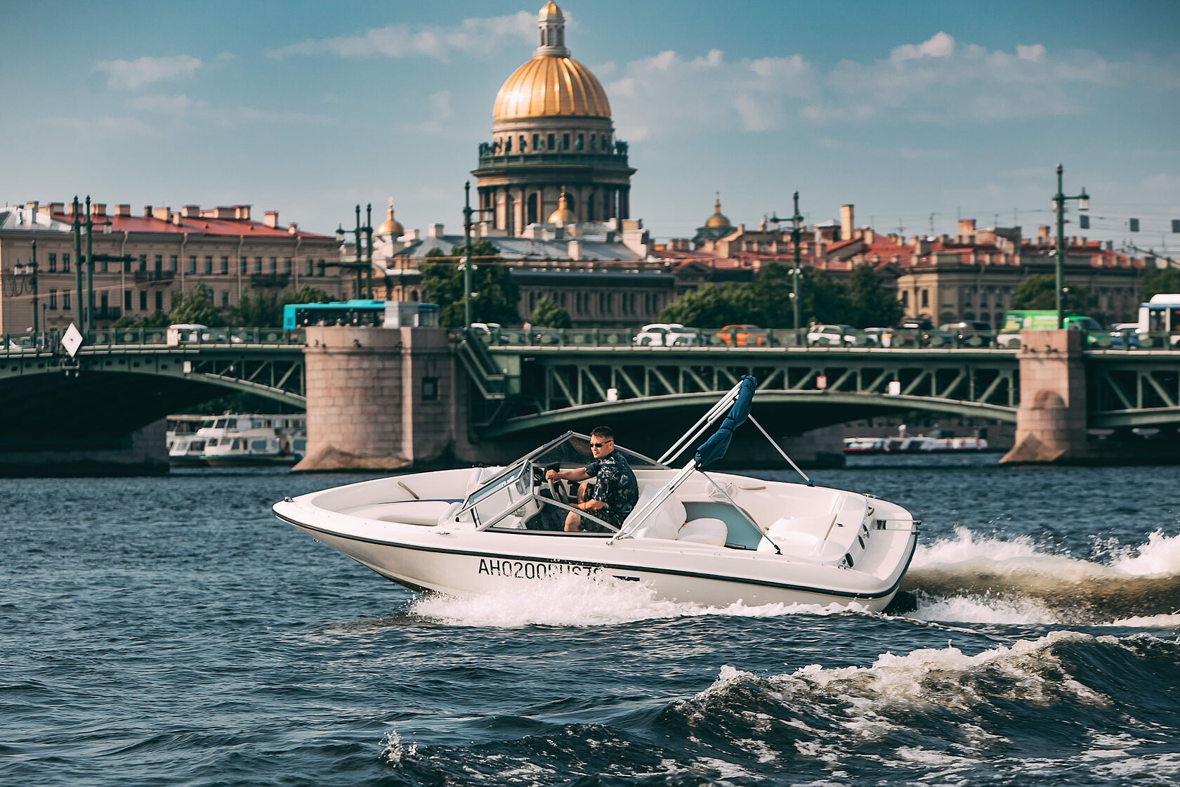
<svg viewBox="0 0 1180 787">
<path fill-rule="evenodd" d="M 496 120 L 548 117 L 610 118 L 607 91 L 565 48 L 565 17 L 556 2 L 538 14 L 540 46 L 496 94 Z"/>
</svg>

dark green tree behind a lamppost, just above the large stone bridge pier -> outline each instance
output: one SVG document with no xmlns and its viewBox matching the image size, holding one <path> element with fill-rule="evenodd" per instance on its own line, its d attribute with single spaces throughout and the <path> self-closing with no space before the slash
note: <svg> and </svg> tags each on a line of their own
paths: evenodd
<svg viewBox="0 0 1180 787">
<path fill-rule="evenodd" d="M 463 257 L 465 247 L 451 249 L 452 257 Z M 471 256 L 476 265 L 471 271 L 471 319 L 473 322 L 498 322 L 519 324 L 520 288 L 503 260 L 494 258 L 499 250 L 486 238 L 472 241 Z M 426 257 L 444 257 L 438 249 L 431 249 Z M 465 288 L 463 268 L 454 262 L 424 262 L 419 265 L 426 300 L 439 304 L 439 323 L 445 328 L 457 328 L 464 322 L 463 291 Z"/>
</svg>

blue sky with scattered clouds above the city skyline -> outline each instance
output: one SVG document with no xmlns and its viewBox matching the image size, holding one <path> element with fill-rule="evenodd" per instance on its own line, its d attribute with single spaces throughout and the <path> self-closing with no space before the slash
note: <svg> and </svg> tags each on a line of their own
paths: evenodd
<svg viewBox="0 0 1180 787">
<path fill-rule="evenodd" d="M 539 1 L 0 4 L 0 199 L 251 204 L 460 231 Z M 1053 222 L 1180 256 L 1180 2 L 563 2 L 656 240 L 856 205 L 881 232 Z M 1074 219 L 1076 214 L 1070 212 Z M 1140 219 L 1140 232 L 1128 219 Z"/>
</svg>

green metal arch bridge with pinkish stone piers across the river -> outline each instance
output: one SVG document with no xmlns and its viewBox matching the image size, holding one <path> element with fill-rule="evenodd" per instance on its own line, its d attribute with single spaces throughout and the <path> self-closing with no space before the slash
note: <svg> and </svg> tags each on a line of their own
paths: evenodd
<svg viewBox="0 0 1180 787">
<path fill-rule="evenodd" d="M 73 356 L 60 336 L 9 335 L 0 348 L 0 404 L 18 417 L 8 419 L 0 451 L 41 446 L 47 438 L 63 445 L 113 440 L 170 412 L 241 391 L 309 413 L 355 405 L 353 414 L 332 415 L 329 432 L 349 424 L 378 429 L 374 408 L 389 413 L 388 428 L 399 434 L 407 425 L 442 418 L 448 426 L 437 440 L 465 442 L 474 455 L 492 444 L 524 445 L 599 420 L 656 437 L 695 420 L 743 374 L 758 378 L 760 420 L 779 435 L 911 411 L 1021 424 L 1057 408 L 1070 413 L 1068 429 L 1081 433 L 1180 424 L 1180 352 L 1173 345 L 1082 349 L 1083 337 L 1069 333 L 1073 345 L 1063 335 L 1056 347 L 1043 348 L 1038 342 L 1049 332 L 1018 348 L 994 342 L 886 348 L 791 341 L 653 347 L 636 346 L 627 330 L 542 332 L 536 341 L 489 343 L 486 335 L 427 328 L 319 328 L 306 335 L 217 328 L 169 343 L 165 329 L 130 329 L 94 332 Z M 427 345 L 421 358 L 428 362 L 413 360 L 415 348 Z M 361 359 L 355 370 L 327 363 L 346 355 Z M 319 372 L 313 373 L 313 359 Z M 1058 361 L 1064 366 L 1055 367 Z M 1042 367 L 1056 370 L 1028 376 Z M 319 382 L 309 385 L 309 376 Z M 420 395 L 413 393 L 419 378 Z M 362 380 L 371 387 L 361 391 Z M 1036 393 L 1034 401 L 1028 383 L 1040 392 L 1045 380 L 1060 380 L 1060 391 L 1048 399 Z M 399 387 L 394 396 L 392 388 Z M 314 420 L 309 415 L 309 424 Z"/>
</svg>

